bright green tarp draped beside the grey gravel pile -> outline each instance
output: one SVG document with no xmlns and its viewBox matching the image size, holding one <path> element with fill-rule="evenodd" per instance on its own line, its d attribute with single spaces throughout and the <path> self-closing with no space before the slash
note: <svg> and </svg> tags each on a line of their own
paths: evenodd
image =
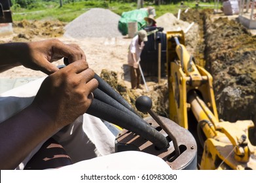
<svg viewBox="0 0 256 183">
<path fill-rule="evenodd" d="M 137 22 L 137 30 L 143 29 L 143 27 L 146 27 L 147 22 L 144 20 L 145 17 L 147 17 L 149 13 L 146 9 L 138 9 L 138 10 L 132 10 L 128 12 L 123 12 L 122 16 L 119 20 L 119 31 L 122 33 L 122 35 L 128 34 L 128 22 Z"/>
</svg>

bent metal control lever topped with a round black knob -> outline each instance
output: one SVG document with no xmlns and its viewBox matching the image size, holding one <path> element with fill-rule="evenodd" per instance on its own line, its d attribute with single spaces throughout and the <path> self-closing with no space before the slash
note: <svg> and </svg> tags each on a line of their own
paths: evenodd
<svg viewBox="0 0 256 183">
<path fill-rule="evenodd" d="M 160 125 L 160 127 L 162 127 L 162 129 L 167 133 L 167 135 L 172 139 L 174 143 L 175 157 L 179 156 L 181 153 L 179 151 L 177 139 L 174 137 L 174 135 L 172 134 L 172 131 L 170 131 L 167 125 L 164 124 L 162 120 L 160 120 L 160 118 L 155 114 L 155 112 L 153 112 L 153 110 L 151 110 L 152 108 L 151 98 L 147 97 L 146 95 L 142 95 L 136 99 L 135 105 L 137 110 L 141 112 L 148 112 L 151 115 L 151 117 L 156 121 L 156 123 Z"/>
</svg>

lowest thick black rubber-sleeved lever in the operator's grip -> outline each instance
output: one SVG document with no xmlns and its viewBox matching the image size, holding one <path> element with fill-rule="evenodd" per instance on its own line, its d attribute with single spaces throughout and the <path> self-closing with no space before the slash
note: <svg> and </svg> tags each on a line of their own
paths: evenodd
<svg viewBox="0 0 256 183">
<path fill-rule="evenodd" d="M 137 118 L 136 114 L 130 115 L 98 99 L 92 100 L 92 104 L 86 113 L 132 131 L 151 141 L 159 149 L 166 149 L 169 146 L 169 142 L 164 135 L 148 125 L 142 118 Z"/>
</svg>

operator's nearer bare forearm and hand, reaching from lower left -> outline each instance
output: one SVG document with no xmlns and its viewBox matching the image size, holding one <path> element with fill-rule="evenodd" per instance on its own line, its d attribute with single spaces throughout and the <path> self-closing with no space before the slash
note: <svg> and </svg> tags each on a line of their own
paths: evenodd
<svg viewBox="0 0 256 183">
<path fill-rule="evenodd" d="M 0 124 L 0 169 L 15 169 L 41 141 L 84 114 L 98 87 L 84 60 L 48 76 L 33 103 Z"/>
</svg>

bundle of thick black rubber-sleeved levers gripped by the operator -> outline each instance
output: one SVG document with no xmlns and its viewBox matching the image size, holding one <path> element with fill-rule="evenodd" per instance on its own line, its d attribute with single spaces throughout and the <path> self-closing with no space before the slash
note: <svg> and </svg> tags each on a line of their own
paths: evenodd
<svg viewBox="0 0 256 183">
<path fill-rule="evenodd" d="M 64 58 L 64 63 L 69 65 L 67 58 Z M 147 124 L 132 106 L 100 76 L 95 74 L 94 78 L 98 80 L 99 86 L 93 92 L 94 99 L 86 111 L 87 114 L 128 129 L 151 141 L 159 149 L 168 148 L 169 142 L 164 135 Z"/>
</svg>

